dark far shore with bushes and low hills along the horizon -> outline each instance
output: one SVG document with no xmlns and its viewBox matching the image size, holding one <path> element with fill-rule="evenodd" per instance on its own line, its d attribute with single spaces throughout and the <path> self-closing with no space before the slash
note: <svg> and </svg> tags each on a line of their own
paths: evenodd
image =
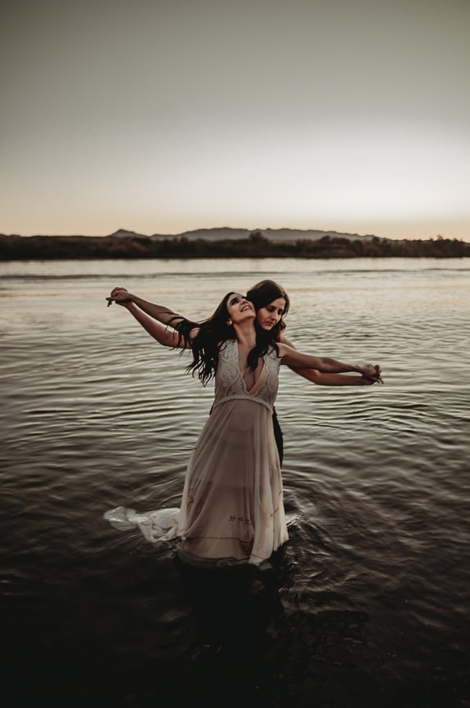
<svg viewBox="0 0 470 708">
<path fill-rule="evenodd" d="M 124 229 L 110 236 L 0 234 L 0 261 L 74 258 L 463 258 L 470 243 L 442 236 L 427 241 L 336 232 L 199 229 L 176 236 L 143 236 Z"/>
</svg>

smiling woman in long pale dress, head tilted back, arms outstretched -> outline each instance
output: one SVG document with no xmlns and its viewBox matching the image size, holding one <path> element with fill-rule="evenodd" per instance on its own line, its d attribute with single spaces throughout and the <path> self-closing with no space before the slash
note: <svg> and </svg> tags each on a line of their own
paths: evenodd
<svg viewBox="0 0 470 708">
<path fill-rule="evenodd" d="M 189 460 L 180 510 L 141 517 L 118 508 L 106 517 L 118 527 L 137 523 L 151 540 L 180 537 L 180 557 L 192 564 L 260 564 L 288 538 L 271 420 L 279 366 L 327 375 L 356 372 L 370 382 L 380 380 L 380 368 L 298 353 L 276 341 L 272 327 L 255 328 L 253 304 L 236 292 L 202 324 L 122 288 L 108 301 L 139 309 L 142 316 L 132 314 L 147 331 L 149 315 L 174 328 L 179 346 L 192 349 L 188 369 L 203 384 L 214 377 L 216 386 L 213 412 Z"/>
</svg>

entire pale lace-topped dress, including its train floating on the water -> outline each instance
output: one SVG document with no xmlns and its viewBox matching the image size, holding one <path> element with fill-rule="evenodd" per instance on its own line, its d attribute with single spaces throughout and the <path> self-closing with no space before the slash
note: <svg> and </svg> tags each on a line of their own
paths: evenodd
<svg viewBox="0 0 470 708">
<path fill-rule="evenodd" d="M 288 539 L 281 467 L 272 412 L 280 360 L 264 355 L 247 390 L 236 340 L 219 353 L 213 412 L 189 459 L 179 513 L 105 514 L 119 528 L 139 526 L 152 541 L 180 537 L 182 560 L 194 564 L 259 564 Z"/>
</svg>

